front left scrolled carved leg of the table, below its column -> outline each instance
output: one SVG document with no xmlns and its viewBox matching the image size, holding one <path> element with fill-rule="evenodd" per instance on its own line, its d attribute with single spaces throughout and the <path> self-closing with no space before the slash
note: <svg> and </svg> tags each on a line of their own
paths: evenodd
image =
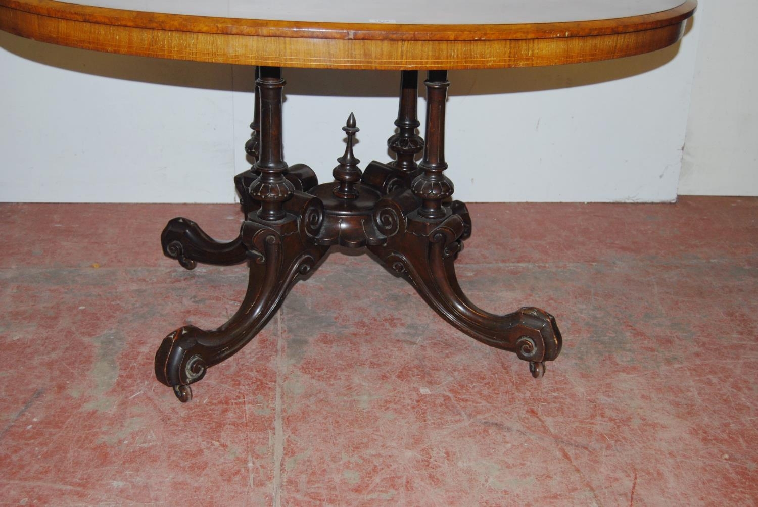
<svg viewBox="0 0 758 507">
<path fill-rule="evenodd" d="M 249 282 L 240 308 L 216 330 L 183 326 L 170 333 L 155 354 L 155 376 L 174 389 L 182 402 L 192 398 L 189 384 L 242 349 L 265 326 L 298 277 L 308 274 L 327 248 L 315 246 L 323 208 L 312 196 L 295 192 L 287 220 L 270 225 L 243 223 L 242 238 L 249 252 Z"/>
</svg>

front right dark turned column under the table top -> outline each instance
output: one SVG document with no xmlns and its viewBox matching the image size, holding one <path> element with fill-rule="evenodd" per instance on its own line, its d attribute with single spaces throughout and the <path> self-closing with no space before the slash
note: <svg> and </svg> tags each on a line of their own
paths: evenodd
<svg viewBox="0 0 758 507">
<path fill-rule="evenodd" d="M 427 89 L 426 139 L 424 157 L 418 167 L 422 174 L 413 180 L 411 189 L 421 199 L 418 214 L 422 218 L 439 220 L 445 217 L 443 200 L 453 195 L 453 182 L 444 176 L 445 162 L 445 101 L 450 82 L 447 70 L 430 70 L 424 81 Z"/>
</svg>

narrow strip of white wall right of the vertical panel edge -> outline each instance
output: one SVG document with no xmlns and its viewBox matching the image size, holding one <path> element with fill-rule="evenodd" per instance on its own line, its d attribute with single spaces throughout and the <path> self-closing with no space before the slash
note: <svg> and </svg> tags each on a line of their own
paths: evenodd
<svg viewBox="0 0 758 507">
<path fill-rule="evenodd" d="M 700 0 L 682 195 L 758 196 L 755 0 Z"/>
</svg>

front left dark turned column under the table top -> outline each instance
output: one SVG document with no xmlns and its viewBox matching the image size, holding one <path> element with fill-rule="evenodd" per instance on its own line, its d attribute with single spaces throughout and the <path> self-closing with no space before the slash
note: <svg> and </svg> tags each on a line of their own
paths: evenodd
<svg viewBox="0 0 758 507">
<path fill-rule="evenodd" d="M 260 174 L 250 185 L 250 196 L 261 203 L 258 218 L 280 221 L 287 214 L 282 203 L 293 196 L 294 186 L 284 178 L 287 162 L 282 144 L 282 92 L 286 82 L 280 67 L 259 67 L 255 82 L 260 94 L 260 139 L 255 172 Z"/>
</svg>

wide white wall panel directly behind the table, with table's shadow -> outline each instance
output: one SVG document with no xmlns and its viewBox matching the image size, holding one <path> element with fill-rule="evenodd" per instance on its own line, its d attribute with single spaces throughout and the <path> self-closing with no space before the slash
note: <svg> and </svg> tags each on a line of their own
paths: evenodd
<svg viewBox="0 0 758 507">
<path fill-rule="evenodd" d="M 699 20 L 684 41 L 594 64 L 450 73 L 456 198 L 672 201 Z M 387 160 L 399 74 L 285 69 L 290 164 L 331 179 L 355 111 Z M 233 202 L 252 69 L 107 55 L 0 33 L 0 201 Z M 423 121 L 424 102 L 419 103 Z M 423 135 L 423 132 L 422 132 Z"/>
</svg>

